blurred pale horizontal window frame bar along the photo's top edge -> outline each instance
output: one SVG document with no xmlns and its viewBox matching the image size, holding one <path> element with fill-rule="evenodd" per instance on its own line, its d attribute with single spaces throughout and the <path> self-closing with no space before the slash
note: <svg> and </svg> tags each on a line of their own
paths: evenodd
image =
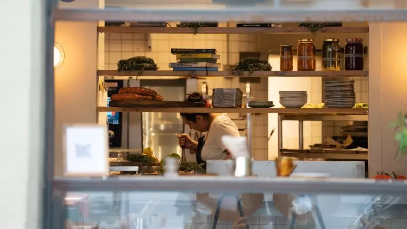
<svg viewBox="0 0 407 229">
<path fill-rule="evenodd" d="M 407 20 L 406 5 L 404 0 L 60 1 L 59 9 L 105 8 L 111 11 L 65 10 L 57 12 L 56 18 L 94 21 L 399 21 Z M 133 12 L 124 13 L 123 10 Z"/>
</svg>

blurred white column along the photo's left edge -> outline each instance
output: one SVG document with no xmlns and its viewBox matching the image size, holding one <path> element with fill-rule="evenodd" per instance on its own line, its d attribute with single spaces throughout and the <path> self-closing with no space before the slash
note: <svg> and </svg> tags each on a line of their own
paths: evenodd
<svg viewBox="0 0 407 229">
<path fill-rule="evenodd" d="M 0 1 L 2 228 L 42 228 L 45 16 L 45 1 Z"/>
</svg>

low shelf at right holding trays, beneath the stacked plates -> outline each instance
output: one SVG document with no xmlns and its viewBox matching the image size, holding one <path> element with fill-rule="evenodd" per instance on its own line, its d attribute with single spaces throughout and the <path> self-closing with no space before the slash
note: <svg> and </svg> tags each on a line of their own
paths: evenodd
<svg viewBox="0 0 407 229">
<path fill-rule="evenodd" d="M 308 150 L 280 149 L 280 156 L 298 157 L 298 158 L 367 160 L 368 151 L 338 150 L 338 149 L 308 149 Z"/>
</svg>

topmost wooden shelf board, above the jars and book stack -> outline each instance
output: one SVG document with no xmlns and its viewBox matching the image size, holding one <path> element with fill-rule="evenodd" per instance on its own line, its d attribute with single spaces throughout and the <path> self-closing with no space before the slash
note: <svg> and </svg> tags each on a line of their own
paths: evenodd
<svg viewBox="0 0 407 229">
<path fill-rule="evenodd" d="M 193 28 L 180 27 L 98 27 L 99 33 L 142 33 L 142 34 L 192 34 Z M 369 27 L 325 27 L 317 33 L 368 33 Z M 199 34 L 287 34 L 311 33 L 303 27 L 274 27 L 274 28 L 198 28 Z"/>
</svg>

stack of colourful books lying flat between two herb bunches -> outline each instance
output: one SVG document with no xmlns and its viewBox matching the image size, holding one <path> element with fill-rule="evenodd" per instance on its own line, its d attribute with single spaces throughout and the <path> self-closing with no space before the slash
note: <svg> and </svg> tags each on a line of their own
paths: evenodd
<svg viewBox="0 0 407 229">
<path fill-rule="evenodd" d="M 216 49 L 184 49 L 171 48 L 171 53 L 176 56 L 176 63 L 169 63 L 173 71 L 218 71 L 220 64 L 217 61 L 220 55 Z"/>
</svg>

